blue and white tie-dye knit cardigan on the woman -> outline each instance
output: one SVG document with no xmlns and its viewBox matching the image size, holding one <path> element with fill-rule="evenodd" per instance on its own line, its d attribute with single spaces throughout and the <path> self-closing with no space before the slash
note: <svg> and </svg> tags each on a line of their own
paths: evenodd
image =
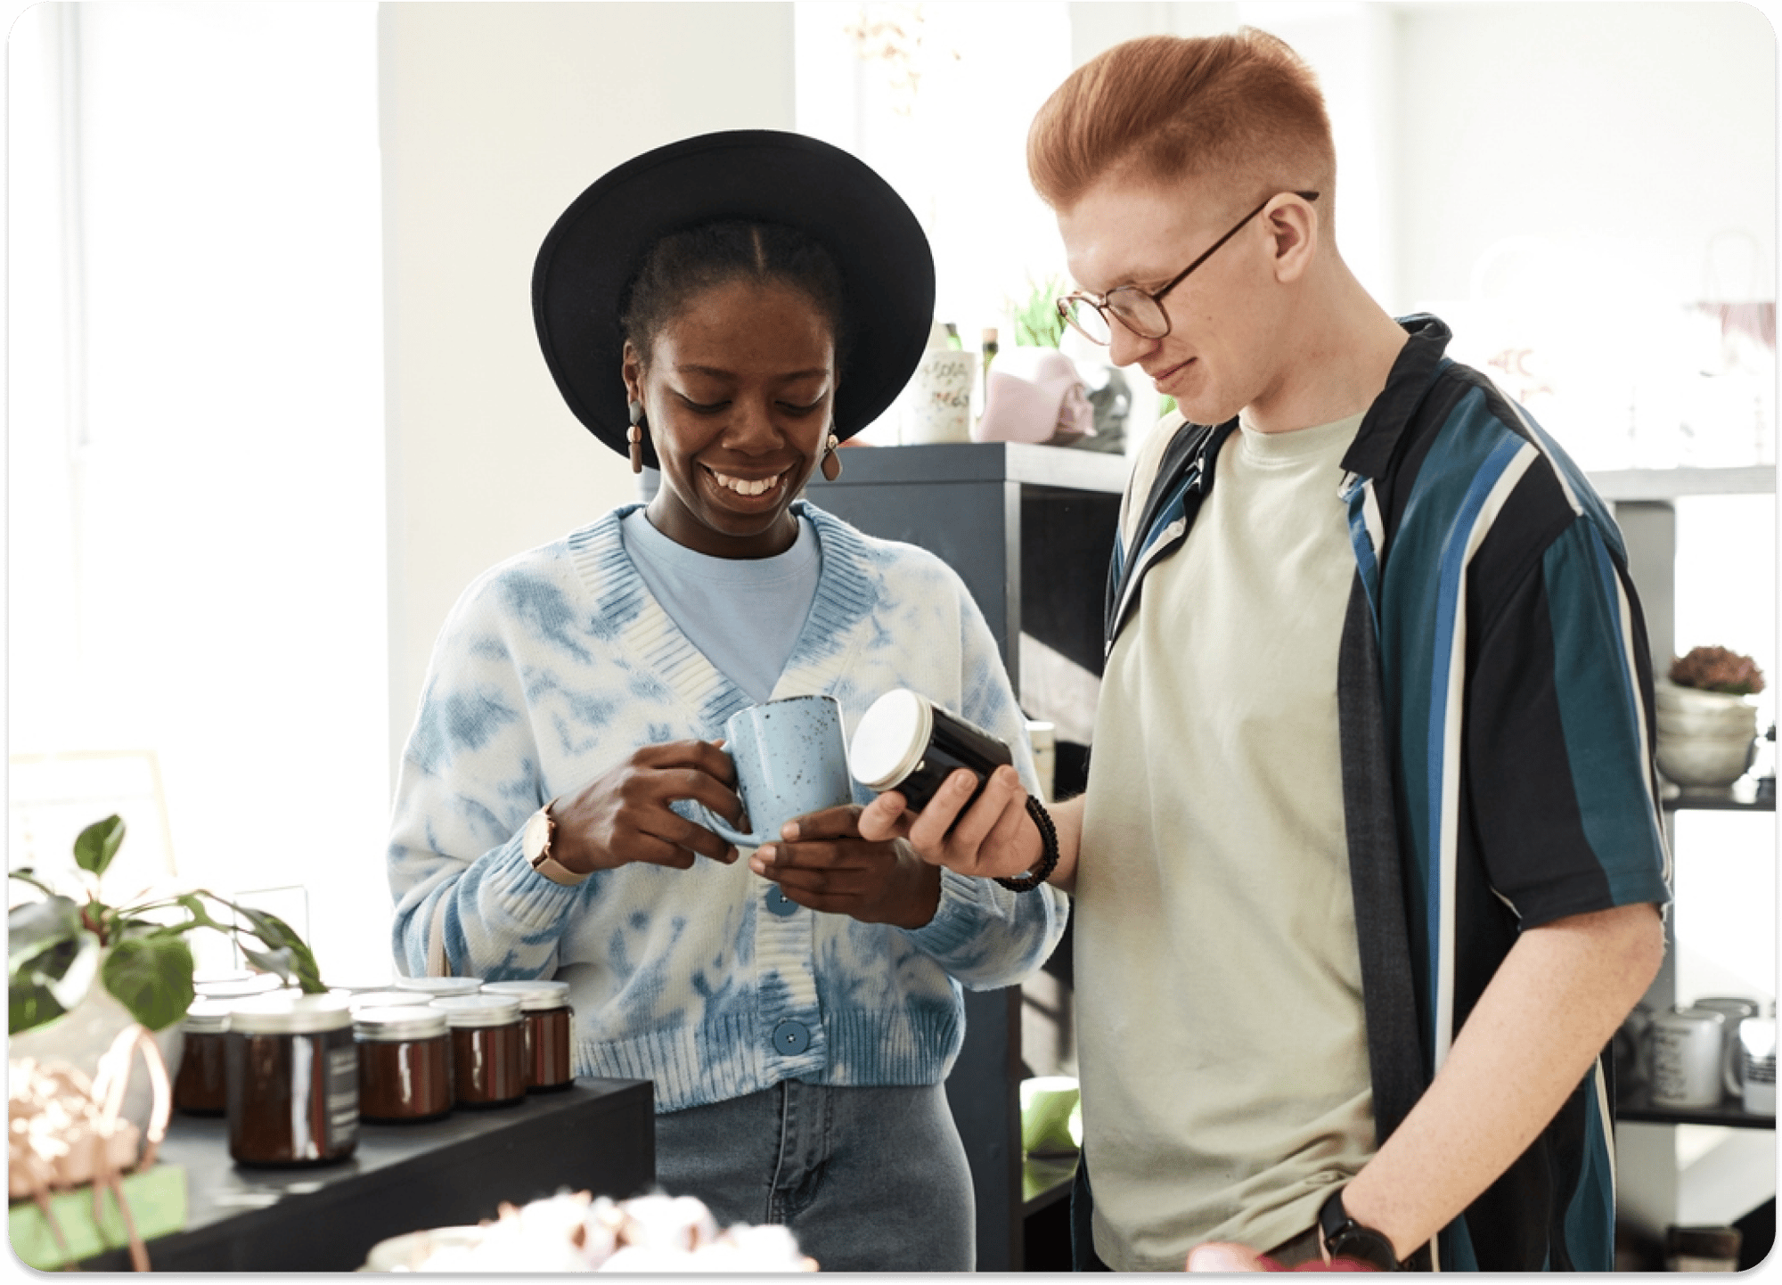
<svg viewBox="0 0 1782 1285">
<path fill-rule="evenodd" d="M 750 704 L 645 588 L 627 512 L 494 567 L 446 620 L 396 790 L 399 966 L 567 980 L 576 1071 L 654 1080 L 658 1110 L 791 1078 L 937 1084 L 964 1037 L 960 982 L 1034 971 L 1064 932 L 1055 889 L 943 872 L 934 920 L 903 930 L 798 907 L 747 861 L 627 864 L 561 888 L 520 854 L 545 800 L 642 745 L 715 740 Z M 912 688 L 1016 747 L 1032 788 L 1021 711 L 959 576 L 800 512 L 823 570 L 773 697 L 829 693 L 852 731 L 882 692 Z"/>
</svg>

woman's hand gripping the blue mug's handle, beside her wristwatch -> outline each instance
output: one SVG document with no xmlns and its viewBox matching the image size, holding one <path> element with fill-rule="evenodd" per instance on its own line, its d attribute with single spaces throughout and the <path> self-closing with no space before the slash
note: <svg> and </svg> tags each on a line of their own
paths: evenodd
<svg viewBox="0 0 1782 1285">
<path fill-rule="evenodd" d="M 686 870 L 695 855 L 725 864 L 736 848 L 668 809 L 693 798 L 731 823 L 741 820 L 736 765 L 722 741 L 645 745 L 625 763 L 551 806 L 551 855 L 576 873 L 642 861 Z"/>
</svg>

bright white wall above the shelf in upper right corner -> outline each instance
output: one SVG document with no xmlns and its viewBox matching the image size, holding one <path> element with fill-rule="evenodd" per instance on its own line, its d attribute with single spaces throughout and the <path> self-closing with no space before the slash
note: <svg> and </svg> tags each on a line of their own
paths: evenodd
<svg viewBox="0 0 1782 1285">
<path fill-rule="evenodd" d="M 1509 237 L 1582 291 L 1775 299 L 1777 45 L 1739 0 L 1515 0 L 1399 14 L 1395 307 L 1461 299 Z M 1729 292 L 1730 291 L 1730 292 Z"/>
</svg>

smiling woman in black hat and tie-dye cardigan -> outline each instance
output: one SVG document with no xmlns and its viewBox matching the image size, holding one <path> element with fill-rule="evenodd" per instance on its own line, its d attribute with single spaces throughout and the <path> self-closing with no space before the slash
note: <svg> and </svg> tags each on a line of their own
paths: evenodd
<svg viewBox="0 0 1782 1285">
<path fill-rule="evenodd" d="M 663 1189 L 829 1271 L 971 1269 L 959 987 L 1032 971 L 1064 902 L 861 839 L 864 791 L 747 863 L 670 804 L 741 816 L 731 713 L 829 693 L 852 725 L 898 686 L 1032 784 L 959 577 L 797 499 L 907 381 L 932 298 L 909 209 L 813 139 L 688 139 L 570 205 L 533 278 L 545 362 L 661 488 L 465 590 L 390 845 L 406 971 L 567 980 L 577 1073 L 656 1085 Z"/>
</svg>

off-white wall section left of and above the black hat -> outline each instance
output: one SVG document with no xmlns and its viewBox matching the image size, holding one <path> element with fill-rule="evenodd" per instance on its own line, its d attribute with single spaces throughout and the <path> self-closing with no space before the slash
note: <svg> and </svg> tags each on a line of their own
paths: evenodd
<svg viewBox="0 0 1782 1285">
<path fill-rule="evenodd" d="M 381 5 L 392 763 L 463 586 L 636 495 L 540 356 L 545 232 L 652 146 L 791 128 L 791 50 L 789 4 Z"/>
</svg>

